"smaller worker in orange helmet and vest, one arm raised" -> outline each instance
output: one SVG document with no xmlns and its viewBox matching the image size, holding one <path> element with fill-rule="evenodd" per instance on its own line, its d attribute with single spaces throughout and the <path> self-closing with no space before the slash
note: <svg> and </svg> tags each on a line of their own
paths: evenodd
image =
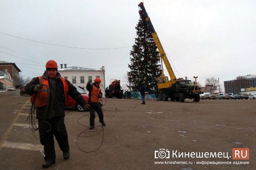
<svg viewBox="0 0 256 170">
<path fill-rule="evenodd" d="M 86 89 L 89 91 L 89 99 L 88 104 L 90 104 L 90 128 L 94 128 L 94 119 L 95 119 L 95 111 L 99 116 L 99 122 L 102 126 L 105 126 L 105 122 L 103 119 L 103 112 L 101 109 L 101 100 L 102 97 L 101 88 L 99 87 L 101 83 L 101 79 L 96 77 L 94 79 L 94 83 L 91 84 L 91 81 L 87 82 Z"/>
</svg>

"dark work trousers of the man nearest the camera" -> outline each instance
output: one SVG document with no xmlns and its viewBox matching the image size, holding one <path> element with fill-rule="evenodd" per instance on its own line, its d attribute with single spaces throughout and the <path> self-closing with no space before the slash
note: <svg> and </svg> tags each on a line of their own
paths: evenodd
<svg viewBox="0 0 256 170">
<path fill-rule="evenodd" d="M 46 120 L 38 120 L 40 142 L 44 146 L 44 160 L 55 160 L 54 139 L 57 140 L 63 152 L 69 151 L 68 133 L 64 124 L 64 117 L 58 116 Z"/>
</svg>

